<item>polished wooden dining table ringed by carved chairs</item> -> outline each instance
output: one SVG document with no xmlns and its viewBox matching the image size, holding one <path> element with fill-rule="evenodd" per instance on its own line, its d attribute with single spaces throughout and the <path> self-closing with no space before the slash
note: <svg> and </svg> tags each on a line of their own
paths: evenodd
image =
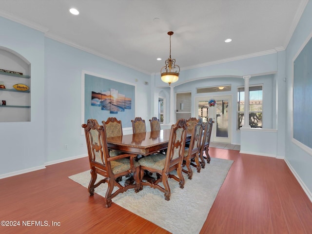
<svg viewBox="0 0 312 234">
<path fill-rule="evenodd" d="M 147 156 L 167 149 L 169 138 L 170 129 L 107 137 L 107 147 L 110 150 Z"/>
</svg>

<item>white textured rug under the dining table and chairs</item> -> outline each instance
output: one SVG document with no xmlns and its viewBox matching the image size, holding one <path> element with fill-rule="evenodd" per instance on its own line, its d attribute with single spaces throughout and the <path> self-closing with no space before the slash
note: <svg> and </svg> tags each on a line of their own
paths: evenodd
<svg viewBox="0 0 312 234">
<path fill-rule="evenodd" d="M 134 189 L 130 189 L 112 201 L 173 234 L 198 234 L 232 163 L 232 160 L 212 157 L 210 164 L 206 163 L 200 173 L 192 167 L 192 180 L 183 173 L 184 189 L 180 189 L 176 180 L 169 179 L 170 201 L 166 201 L 158 189 L 148 186 L 144 186 L 137 194 Z M 90 170 L 69 178 L 87 188 L 91 178 Z M 98 176 L 98 180 L 101 178 Z M 106 183 L 101 184 L 95 192 L 104 196 L 106 189 Z"/>
</svg>

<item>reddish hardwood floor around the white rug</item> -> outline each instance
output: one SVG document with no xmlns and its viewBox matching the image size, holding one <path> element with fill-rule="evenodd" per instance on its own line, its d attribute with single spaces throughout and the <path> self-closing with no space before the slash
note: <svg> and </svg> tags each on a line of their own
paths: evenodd
<svg viewBox="0 0 312 234">
<path fill-rule="evenodd" d="M 218 148 L 209 152 L 234 163 L 201 234 L 312 234 L 312 203 L 284 160 Z M 0 226 L 0 233 L 168 233 L 115 203 L 106 209 L 101 196 L 89 197 L 68 178 L 88 169 L 85 157 L 0 179 L 0 220 L 20 220 L 20 226 Z M 35 226 L 32 220 L 50 226 Z"/>
</svg>

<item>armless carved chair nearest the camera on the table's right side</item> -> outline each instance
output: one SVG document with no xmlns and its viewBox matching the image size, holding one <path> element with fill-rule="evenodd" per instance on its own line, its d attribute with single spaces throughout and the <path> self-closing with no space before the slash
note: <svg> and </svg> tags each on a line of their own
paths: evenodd
<svg viewBox="0 0 312 234">
<path fill-rule="evenodd" d="M 176 124 L 171 126 L 167 155 L 154 154 L 138 160 L 140 164 L 139 177 L 141 181 L 141 190 L 143 189 L 143 186 L 159 189 L 164 193 L 165 200 L 169 201 L 171 191 L 168 178 L 175 179 L 179 182 L 180 188 L 184 188 L 185 180 L 182 175 L 182 160 L 185 148 L 186 129 L 185 119 L 179 119 Z M 170 174 L 175 170 L 177 175 Z M 153 176 L 156 177 L 152 180 L 145 180 L 145 171 L 153 173 Z M 160 182 L 162 182 L 163 187 L 159 184 Z"/>
</svg>

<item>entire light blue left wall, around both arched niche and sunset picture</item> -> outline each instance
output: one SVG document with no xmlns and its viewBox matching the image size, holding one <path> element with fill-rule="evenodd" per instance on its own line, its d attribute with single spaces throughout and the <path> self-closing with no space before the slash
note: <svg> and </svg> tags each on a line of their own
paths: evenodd
<svg viewBox="0 0 312 234">
<path fill-rule="evenodd" d="M 15 51 L 31 64 L 31 121 L 0 123 L 0 177 L 87 155 L 81 135 L 82 71 L 136 84 L 136 116 L 150 118 L 149 75 L 5 18 L 0 17 L 0 27 L 1 48 Z"/>
</svg>

